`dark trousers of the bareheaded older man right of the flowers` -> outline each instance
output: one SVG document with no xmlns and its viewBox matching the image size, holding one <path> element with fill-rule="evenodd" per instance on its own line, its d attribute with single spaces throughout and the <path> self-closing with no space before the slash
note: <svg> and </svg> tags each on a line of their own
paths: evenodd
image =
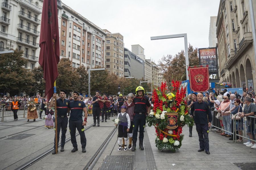
<svg viewBox="0 0 256 170">
<path fill-rule="evenodd" d="M 196 131 L 199 137 L 199 146 L 200 149 L 204 149 L 205 151 L 209 151 L 209 127 L 208 124 L 199 124 L 196 123 Z"/>
</svg>

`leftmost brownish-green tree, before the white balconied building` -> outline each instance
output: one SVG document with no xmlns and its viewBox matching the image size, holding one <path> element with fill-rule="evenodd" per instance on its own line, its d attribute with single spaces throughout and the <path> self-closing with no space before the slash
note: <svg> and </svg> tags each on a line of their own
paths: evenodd
<svg viewBox="0 0 256 170">
<path fill-rule="evenodd" d="M 0 90 L 10 95 L 20 92 L 30 93 L 34 84 L 32 72 L 23 68 L 27 59 L 22 57 L 23 51 L 0 55 Z"/>
</svg>

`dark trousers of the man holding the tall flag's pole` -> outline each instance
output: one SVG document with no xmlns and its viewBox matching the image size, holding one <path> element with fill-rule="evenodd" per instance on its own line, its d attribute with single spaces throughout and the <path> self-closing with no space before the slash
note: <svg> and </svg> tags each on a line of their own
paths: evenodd
<svg viewBox="0 0 256 170">
<path fill-rule="evenodd" d="M 57 140 L 58 140 L 58 146 L 59 146 L 59 141 L 60 141 L 60 129 L 61 129 L 61 142 L 60 142 L 60 146 L 64 147 L 65 145 L 65 140 L 66 140 L 66 132 L 67 132 L 67 122 L 68 122 L 68 118 L 67 116 L 62 118 L 62 117 L 57 117 Z M 55 130 L 55 128 L 54 128 Z M 56 133 L 56 130 L 55 130 Z M 54 146 L 53 148 L 55 148 L 56 145 L 56 141 L 55 141 L 55 136 L 54 136 Z"/>
</svg>

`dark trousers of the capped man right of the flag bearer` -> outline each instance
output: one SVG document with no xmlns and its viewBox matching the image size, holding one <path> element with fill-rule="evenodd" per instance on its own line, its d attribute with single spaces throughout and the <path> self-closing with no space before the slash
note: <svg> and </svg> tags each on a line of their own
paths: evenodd
<svg viewBox="0 0 256 170">
<path fill-rule="evenodd" d="M 83 124 L 83 120 L 69 119 L 69 131 L 70 131 L 71 143 L 73 147 L 77 147 L 75 129 L 77 129 L 77 131 L 79 132 L 82 148 L 85 148 L 86 146 L 86 138 L 85 138 L 85 132 L 84 132 L 85 128 L 82 124 Z"/>
</svg>

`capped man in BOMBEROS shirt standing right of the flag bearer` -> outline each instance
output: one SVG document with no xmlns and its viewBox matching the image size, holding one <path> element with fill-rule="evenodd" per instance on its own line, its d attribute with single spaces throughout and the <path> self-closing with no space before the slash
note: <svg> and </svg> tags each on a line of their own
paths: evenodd
<svg viewBox="0 0 256 170">
<path fill-rule="evenodd" d="M 78 150 L 77 148 L 77 142 L 76 142 L 76 137 L 75 137 L 75 129 L 79 132 L 80 135 L 80 141 L 82 145 L 82 152 L 86 152 L 86 137 L 85 137 L 85 128 L 87 123 L 87 108 L 86 105 L 83 101 L 78 100 L 78 95 L 79 93 L 74 91 L 73 92 L 73 101 L 70 101 L 68 103 L 68 111 L 70 110 L 70 117 L 69 117 L 69 131 L 70 131 L 70 136 L 71 136 L 71 143 L 73 145 L 73 149 L 71 152 L 75 152 Z M 85 114 L 85 118 L 83 120 L 83 112 Z"/>
</svg>

